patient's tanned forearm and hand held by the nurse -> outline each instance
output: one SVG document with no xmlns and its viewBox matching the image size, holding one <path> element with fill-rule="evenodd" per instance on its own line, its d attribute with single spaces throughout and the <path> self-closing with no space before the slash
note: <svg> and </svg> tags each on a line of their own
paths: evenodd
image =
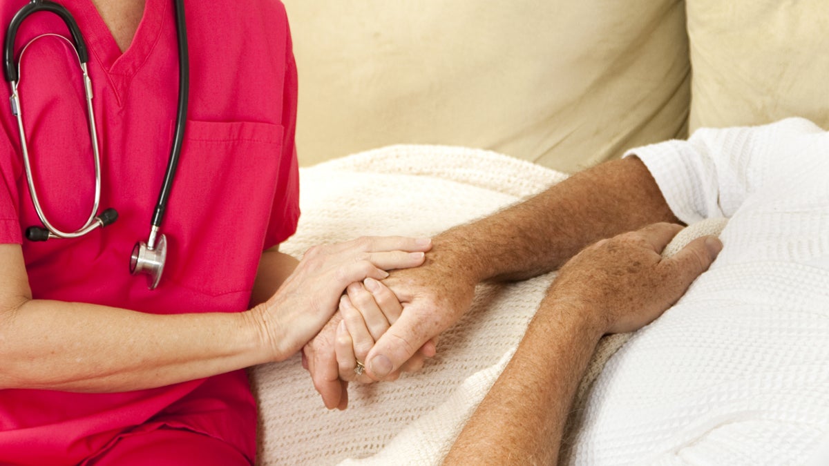
<svg viewBox="0 0 829 466">
<path fill-rule="evenodd" d="M 418 350 L 457 322 L 483 280 L 528 279 L 557 269 L 586 245 L 658 221 L 676 222 L 656 182 L 637 158 L 604 163 L 578 173 L 536 197 L 433 238 L 424 265 L 394 270 L 384 283 L 403 305 L 403 313 L 378 340 L 366 359 L 387 357 L 392 373 Z M 334 316 L 334 321 L 340 316 Z M 315 381 L 326 366 L 336 366 L 327 342 L 336 325 L 327 325 L 305 347 L 316 365 Z M 405 343 L 401 343 L 405 342 Z M 371 380 L 386 375 L 366 366 Z M 320 384 L 327 406 L 340 405 L 340 381 Z"/>
</svg>

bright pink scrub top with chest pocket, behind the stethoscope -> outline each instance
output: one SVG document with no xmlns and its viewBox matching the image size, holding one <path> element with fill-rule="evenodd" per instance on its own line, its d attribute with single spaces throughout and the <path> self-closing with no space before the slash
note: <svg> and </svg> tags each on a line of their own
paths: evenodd
<svg viewBox="0 0 829 466">
<path fill-rule="evenodd" d="M 22 240 L 40 226 L 17 136 L 0 90 L 0 243 L 22 244 L 35 299 L 99 303 L 146 313 L 240 312 L 261 252 L 293 234 L 298 168 L 297 75 L 279 2 L 187 2 L 190 104 L 178 174 L 162 226 L 167 265 L 158 289 L 129 274 L 147 240 L 172 143 L 178 92 L 171 0 L 147 0 L 122 54 L 90 0 L 59 0 L 90 51 L 102 158 L 101 207 L 119 219 L 75 240 Z M 4 0 L 4 27 L 27 0 Z M 23 22 L 33 36 L 68 35 L 59 17 Z M 20 92 L 36 187 L 48 218 L 74 231 L 94 199 L 90 133 L 77 59 L 47 37 L 23 57 Z M 138 336 L 140 337 L 140 336 Z M 56 348 L 60 351 L 60 348 Z M 255 402 L 245 371 L 115 394 L 0 391 L 0 464 L 77 464 L 119 436 L 162 426 L 211 435 L 253 461 Z"/>
</svg>

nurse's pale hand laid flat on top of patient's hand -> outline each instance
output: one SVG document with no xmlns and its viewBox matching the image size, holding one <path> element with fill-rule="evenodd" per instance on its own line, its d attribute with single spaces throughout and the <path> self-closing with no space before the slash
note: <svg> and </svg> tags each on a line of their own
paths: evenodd
<svg viewBox="0 0 829 466">
<path fill-rule="evenodd" d="M 423 264 L 431 240 L 364 237 L 309 249 L 276 294 L 249 312 L 270 361 L 283 361 L 319 333 L 337 310 L 347 286 L 366 278 L 384 279 L 385 270 Z"/>
</svg>

